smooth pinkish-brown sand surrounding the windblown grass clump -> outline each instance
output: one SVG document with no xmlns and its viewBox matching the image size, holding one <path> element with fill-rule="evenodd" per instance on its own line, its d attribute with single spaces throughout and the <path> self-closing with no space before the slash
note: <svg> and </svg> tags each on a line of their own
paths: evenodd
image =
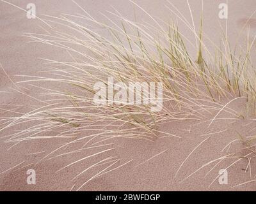
<svg viewBox="0 0 256 204">
<path fill-rule="evenodd" d="M 26 8 L 30 3 L 29 0 L 9 1 L 17 6 Z M 61 13 L 77 13 L 81 12 L 71 1 L 33 1 L 36 4 L 37 15 L 60 15 Z M 190 19 L 190 13 L 186 1 L 171 1 L 181 13 Z M 218 42 L 220 39 L 220 25 L 225 27 L 225 21 L 218 18 L 218 4 L 223 1 L 204 1 L 204 22 L 205 33 L 212 40 Z M 124 17 L 132 18 L 134 6 L 129 1 L 82 1 L 77 0 L 88 13 L 92 13 L 93 17 L 98 20 L 104 20 L 100 13 L 107 13 L 108 10 L 113 11 L 111 6 L 115 7 Z M 200 1 L 189 1 L 191 10 L 195 17 L 195 22 L 199 22 Z M 161 18 L 168 22 L 173 17 L 170 11 L 166 10 L 166 1 L 138 1 L 141 7 L 145 8 L 150 15 Z M 241 30 L 244 21 L 252 15 L 255 10 L 254 0 L 231 1 L 229 3 L 228 18 L 228 36 L 231 43 L 236 42 L 237 33 Z M 136 11 L 137 18 L 140 22 L 150 22 L 145 13 L 141 10 Z M 254 19 L 254 18 L 253 18 Z M 251 33 L 256 34 L 255 20 L 250 20 Z M 178 19 L 179 22 L 179 19 Z M 179 22 L 180 29 L 184 34 L 188 34 L 188 38 L 193 41 L 193 36 L 189 36 L 188 29 Z M 67 55 L 64 51 L 56 50 L 45 45 L 35 46 L 28 43 L 24 33 L 45 33 L 45 25 L 38 20 L 29 20 L 26 13 L 17 8 L 13 8 L 6 3 L 0 1 L 0 62 L 6 73 L 12 77 L 14 82 L 21 80 L 17 75 L 37 75 L 38 71 L 44 68 L 43 62 L 39 58 L 63 59 Z M 241 33 L 244 35 L 245 32 Z M 193 51 L 193 48 L 190 48 Z M 12 115 L 6 110 L 16 112 L 26 112 L 31 106 L 39 105 L 38 101 L 29 98 L 24 94 L 12 91 L 14 87 L 10 78 L 6 77 L 3 70 L 0 70 L 0 105 L 1 117 Z M 47 84 L 51 87 L 51 84 Z M 40 98 L 36 89 L 26 89 L 26 94 Z M 244 112 L 244 99 L 237 99 L 230 104 L 230 108 L 234 108 L 237 112 Z M 227 101 L 223 101 L 223 104 Z M 17 106 L 19 105 L 19 106 Z M 132 139 L 116 139 L 113 145 L 109 147 L 100 147 L 99 150 L 109 150 L 104 156 L 99 155 L 95 158 L 89 158 L 79 164 L 74 164 L 61 171 L 63 166 L 80 159 L 84 154 L 93 154 L 97 151 L 86 150 L 79 154 L 72 154 L 65 157 L 56 157 L 44 160 L 42 163 L 35 164 L 44 157 L 45 152 L 59 147 L 65 143 L 63 139 L 52 140 L 36 140 L 35 142 L 22 142 L 12 149 L 8 150 L 12 144 L 4 143 L 4 136 L 10 132 L 1 133 L 0 140 L 0 190 L 1 191 L 69 191 L 76 190 L 86 180 L 90 179 L 95 172 L 102 170 L 102 166 L 98 166 L 93 170 L 86 172 L 79 177 L 79 180 L 72 180 L 77 173 L 86 169 L 89 164 L 93 164 L 94 159 L 104 159 L 108 156 L 117 156 L 119 165 L 125 164 L 116 170 L 105 175 L 97 177 L 86 183 L 81 190 L 83 191 L 255 191 L 255 182 L 237 186 L 243 182 L 253 180 L 256 173 L 255 161 L 252 159 L 252 172 L 247 170 L 248 160 L 241 159 L 234 166 L 228 168 L 228 184 L 221 185 L 218 182 L 218 172 L 221 168 L 227 168 L 236 159 L 225 159 L 212 171 L 213 163 L 201 170 L 198 170 L 203 164 L 227 155 L 228 153 L 221 150 L 228 143 L 238 137 L 237 133 L 243 136 L 252 136 L 255 134 L 255 122 L 249 119 L 219 119 L 215 120 L 209 127 L 209 121 L 217 112 L 206 115 L 204 120 L 200 121 L 182 121 L 163 124 L 159 129 L 169 131 L 173 135 L 179 135 L 180 138 L 159 138 L 156 141 L 147 142 L 145 140 Z M 218 115 L 218 117 L 228 117 L 227 114 Z M 201 123 L 202 122 L 202 123 Z M 9 130 L 10 131 L 10 130 Z M 208 138 L 209 136 L 211 138 Z M 161 136 L 161 135 L 160 135 Z M 203 142 L 205 140 L 205 142 Z M 111 141 L 112 142 L 112 141 Z M 202 145 L 195 149 L 201 142 Z M 243 154 L 243 145 L 240 143 L 232 145 L 229 152 L 237 152 Z M 189 156 L 191 151 L 195 151 Z M 239 151 L 241 152 L 239 153 Z M 188 157 L 189 156 L 189 157 Z M 186 159 L 188 157 L 188 159 Z M 184 162 L 184 160 L 186 161 Z M 33 164 L 31 164 L 33 163 Z M 183 163 L 183 164 L 182 164 Z M 180 165 L 182 166 L 180 167 Z M 26 171 L 29 169 L 36 171 L 36 185 L 28 185 L 26 179 L 28 175 Z M 179 172 L 177 170 L 180 168 Z M 198 171 L 196 171 L 198 170 Z M 58 172 L 56 172 L 58 171 Z M 195 174 L 191 175 L 196 171 Z M 209 172 L 210 171 L 210 172 Z M 209 172 L 209 173 L 208 173 Z M 177 174 L 176 174 L 177 173 Z M 250 177 L 250 173 L 252 177 Z M 176 174 L 176 175 L 175 175 Z M 207 174 L 205 176 L 205 174 Z M 188 177 L 191 175 L 191 177 Z M 188 177 L 188 179 L 186 179 Z M 184 180 L 186 179 L 186 180 Z M 215 180 L 214 180 L 215 179 Z M 214 181 L 214 182 L 212 182 Z M 212 184 L 211 184 L 212 183 Z M 75 185 L 76 184 L 76 185 Z M 75 185 L 75 186 L 74 186 Z"/>
</svg>

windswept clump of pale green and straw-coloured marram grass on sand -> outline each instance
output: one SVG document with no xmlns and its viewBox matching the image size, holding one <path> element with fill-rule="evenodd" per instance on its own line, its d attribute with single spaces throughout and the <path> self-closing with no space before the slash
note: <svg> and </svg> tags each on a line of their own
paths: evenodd
<svg viewBox="0 0 256 204">
<path fill-rule="evenodd" d="M 34 89 L 42 90 L 46 99 L 44 105 L 31 112 L 17 113 L 1 120 L 2 132 L 16 126 L 29 127 L 4 136 L 6 142 L 17 145 L 27 140 L 70 139 L 40 161 L 76 154 L 85 149 L 104 148 L 63 167 L 68 168 L 88 157 L 113 150 L 111 145 L 115 138 L 151 142 L 164 136 L 182 138 L 159 129 L 159 124 L 179 120 L 200 121 L 206 118 L 205 114 L 212 112 L 217 112 L 217 115 L 227 112 L 234 118 L 244 118 L 246 115 L 243 113 L 228 108 L 228 104 L 238 98 L 245 98 L 248 112 L 255 114 L 256 76 L 250 59 L 254 40 L 246 39 L 245 50 L 238 46 L 232 50 L 228 36 L 223 35 L 221 45 L 212 43 L 215 50 L 212 54 L 204 44 L 203 17 L 198 32 L 188 24 L 188 20 L 182 18 L 195 35 L 196 43 L 193 43 L 179 32 L 173 22 L 161 26 L 148 15 L 152 24 L 140 24 L 122 17 L 118 12 L 110 14 L 112 18 L 106 17 L 108 23 L 95 20 L 86 11 L 77 15 L 45 16 L 44 22 L 52 25 L 47 34 L 26 34 L 31 42 L 60 48 L 69 57 L 63 61 L 44 59 L 47 77 L 22 76 L 25 80 L 18 82 L 18 86 L 29 84 Z M 191 57 L 186 44 L 193 45 L 196 57 Z M 151 105 L 95 105 L 93 84 L 108 84 L 109 77 L 125 84 L 163 82 L 163 110 L 151 112 Z M 51 88 L 39 87 L 35 82 L 47 82 Z M 227 98 L 229 102 L 223 105 L 221 101 Z M 254 140 L 255 137 L 252 137 L 245 143 L 252 146 Z M 82 142 L 83 146 L 65 151 L 77 142 Z M 59 150 L 64 152 L 58 154 Z M 95 166 L 110 165 L 92 180 L 114 170 L 109 168 L 118 161 L 116 157 L 108 157 L 81 174 Z"/>
</svg>

